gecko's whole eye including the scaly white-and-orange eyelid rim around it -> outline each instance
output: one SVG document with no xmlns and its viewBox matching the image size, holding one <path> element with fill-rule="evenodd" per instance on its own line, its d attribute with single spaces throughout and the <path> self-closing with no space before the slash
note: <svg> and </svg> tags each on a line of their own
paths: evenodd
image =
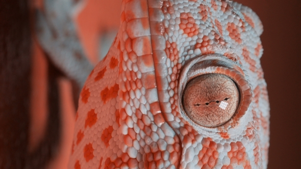
<svg viewBox="0 0 301 169">
<path fill-rule="evenodd" d="M 227 132 L 242 124 L 252 100 L 247 78 L 238 63 L 217 53 L 188 61 L 179 77 L 182 117 L 200 132 Z"/>
</svg>

